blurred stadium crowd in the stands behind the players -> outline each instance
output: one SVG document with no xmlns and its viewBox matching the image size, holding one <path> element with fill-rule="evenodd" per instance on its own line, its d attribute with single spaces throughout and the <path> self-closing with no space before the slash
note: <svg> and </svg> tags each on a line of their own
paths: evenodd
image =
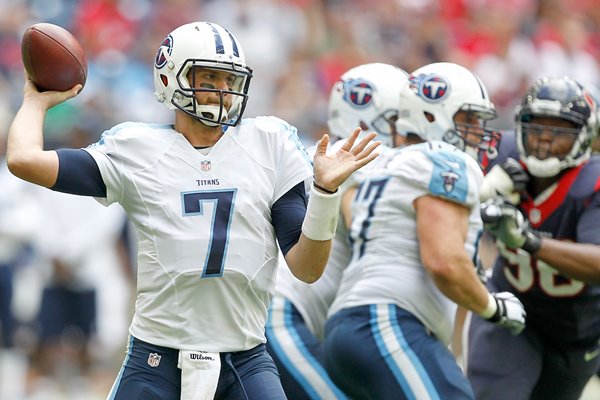
<svg viewBox="0 0 600 400">
<path fill-rule="evenodd" d="M 490 90 L 499 129 L 511 128 L 514 106 L 539 76 L 600 85 L 600 0 L 2 0 L 0 136 L 20 105 L 20 39 L 29 25 L 65 27 L 88 57 L 81 95 L 48 114 L 46 142 L 54 148 L 92 143 L 122 121 L 170 121 L 154 101 L 151 66 L 165 34 L 193 20 L 218 22 L 242 42 L 254 69 L 245 116 L 284 118 L 306 145 L 326 130 L 332 84 L 365 62 L 407 71 L 441 60 L 466 66 Z M 81 390 L 46 382 L 39 398 L 103 398 L 122 359 L 121 334 L 110 357 L 96 351 L 96 375 Z M 30 389 L 28 398 L 37 398 Z"/>
</svg>

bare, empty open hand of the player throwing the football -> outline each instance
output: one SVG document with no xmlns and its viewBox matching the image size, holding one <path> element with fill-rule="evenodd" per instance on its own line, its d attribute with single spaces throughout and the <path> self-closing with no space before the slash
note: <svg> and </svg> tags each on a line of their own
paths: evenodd
<svg viewBox="0 0 600 400">
<path fill-rule="evenodd" d="M 329 135 L 323 135 L 314 156 L 315 186 L 335 192 L 354 171 L 377 157 L 378 153 L 374 150 L 381 142 L 372 141 L 377 134 L 371 132 L 355 143 L 361 132 L 360 128 L 356 128 L 335 154 L 326 154 Z"/>
</svg>

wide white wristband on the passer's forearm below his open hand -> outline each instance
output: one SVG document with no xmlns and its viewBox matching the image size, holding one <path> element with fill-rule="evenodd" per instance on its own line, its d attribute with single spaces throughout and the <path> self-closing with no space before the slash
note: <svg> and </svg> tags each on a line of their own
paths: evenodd
<svg viewBox="0 0 600 400">
<path fill-rule="evenodd" d="M 314 186 L 311 187 L 308 207 L 302 223 L 304 236 L 318 241 L 333 239 L 340 215 L 340 201 L 339 191 L 324 194 Z"/>
</svg>

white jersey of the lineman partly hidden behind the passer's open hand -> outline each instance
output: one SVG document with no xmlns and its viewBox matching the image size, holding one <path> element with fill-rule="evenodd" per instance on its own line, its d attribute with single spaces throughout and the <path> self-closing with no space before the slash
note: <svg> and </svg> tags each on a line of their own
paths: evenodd
<svg viewBox="0 0 600 400">
<path fill-rule="evenodd" d="M 337 152 L 345 143 L 338 140 L 328 149 L 328 153 Z M 353 173 L 339 188 L 341 195 L 348 189 L 358 185 L 365 171 L 377 168 L 384 160 L 384 154 L 390 151 L 389 147 L 380 146 L 381 154 L 373 161 Z M 314 148 L 308 150 L 314 153 Z M 319 339 L 324 337 L 325 320 L 327 311 L 335 298 L 342 272 L 350 262 L 351 248 L 348 241 L 348 230 L 342 216 L 338 218 L 338 225 L 332 241 L 331 254 L 321 278 L 312 284 L 304 283 L 292 275 L 288 268 L 280 268 L 277 275 L 276 295 L 288 299 L 302 316 L 311 332 Z M 285 262 L 285 261 L 284 261 Z"/>
</svg>

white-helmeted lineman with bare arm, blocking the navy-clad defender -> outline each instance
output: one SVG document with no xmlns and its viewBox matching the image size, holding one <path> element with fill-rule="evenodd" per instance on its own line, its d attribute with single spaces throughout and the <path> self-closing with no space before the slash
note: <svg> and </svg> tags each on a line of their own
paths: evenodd
<svg viewBox="0 0 600 400">
<path fill-rule="evenodd" d="M 451 63 L 409 76 L 398 132 L 424 140 L 365 172 L 353 199 L 352 259 L 325 326 L 325 365 L 352 398 L 473 399 L 448 349 L 456 304 L 514 333 L 522 305 L 490 294 L 473 257 L 481 230 L 480 151 L 495 117 L 479 79 Z"/>
</svg>

